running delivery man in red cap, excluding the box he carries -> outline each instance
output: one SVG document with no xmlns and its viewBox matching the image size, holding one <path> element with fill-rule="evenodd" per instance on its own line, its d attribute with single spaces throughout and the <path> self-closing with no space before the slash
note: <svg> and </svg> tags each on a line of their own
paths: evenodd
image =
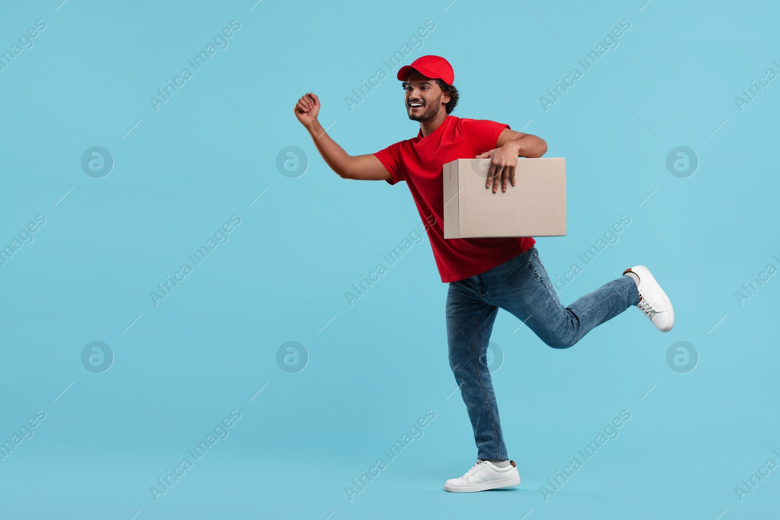
<svg viewBox="0 0 780 520">
<path fill-rule="evenodd" d="M 548 278 L 532 237 L 444 239 L 442 165 L 455 159 L 490 157 L 488 182 L 495 196 L 498 185 L 516 185 L 518 157 L 541 157 L 547 143 L 515 132 L 508 125 L 450 115 L 458 102 L 452 86 L 452 66 L 439 56 L 422 56 L 401 67 L 398 79 L 406 94 L 409 119 L 420 122 L 417 137 L 395 143 L 375 154 L 351 156 L 333 141 L 317 121 L 320 101 L 309 93 L 295 107 L 324 161 L 342 179 L 406 181 L 428 228 L 441 281 L 449 282 L 446 304 L 449 364 L 466 403 L 477 464 L 445 483 L 448 491 L 481 491 L 520 483 L 508 460 L 493 384 L 485 352 L 498 309 L 522 320 L 552 348 L 569 348 L 588 331 L 629 306 L 638 306 L 660 331 L 674 324 L 672 302 L 647 267 L 637 265 L 622 276 L 564 307 Z M 484 218 L 490 218 L 485 215 Z"/>
</svg>

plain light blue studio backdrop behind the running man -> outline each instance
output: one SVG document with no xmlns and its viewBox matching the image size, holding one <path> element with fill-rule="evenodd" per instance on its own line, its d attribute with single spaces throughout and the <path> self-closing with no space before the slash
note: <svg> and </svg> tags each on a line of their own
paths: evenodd
<svg viewBox="0 0 780 520">
<path fill-rule="evenodd" d="M 776 5 L 253 5 L 0 8 L 3 51 L 37 19 L 46 23 L 34 47 L 0 71 L 0 246 L 37 215 L 46 219 L 0 267 L 0 440 L 46 413 L 0 462 L 3 516 L 776 513 L 778 470 L 741 502 L 734 491 L 768 458 L 780 463 L 772 453 L 780 451 L 778 275 L 743 306 L 735 297 L 768 264 L 780 267 L 772 257 L 780 256 L 780 84 L 743 111 L 734 101 L 767 69 L 780 73 Z M 233 19 L 241 29 L 229 47 L 154 111 L 149 97 Z M 461 93 L 453 115 L 524 127 L 547 140 L 547 157 L 566 157 L 568 235 L 537 239 L 551 278 L 621 215 L 631 218 L 562 301 L 644 264 L 675 307 L 668 334 L 632 308 L 563 351 L 499 313 L 492 341 L 505 362 L 494 383 L 523 479 L 512 490 L 443 490 L 475 462 L 476 448 L 463 401 L 448 398 L 456 384 L 441 312 L 447 285 L 427 239 L 346 303 L 353 283 L 420 224 L 409 190 L 340 179 L 293 115 L 300 95 L 316 93 L 322 124 L 335 121 L 329 134 L 350 154 L 416 135 L 382 59 L 428 19 L 435 29 L 405 63 L 424 54 L 452 62 Z M 623 19 L 631 28 L 619 46 L 544 111 L 539 98 Z M 391 77 L 349 111 L 344 98 L 378 68 Z M 93 146 L 115 160 L 103 179 L 80 167 Z M 310 161 L 297 179 L 276 168 L 289 146 Z M 687 179 L 665 167 L 678 146 L 700 161 Z M 155 307 L 149 292 L 233 214 L 241 224 L 229 242 Z M 114 352 L 105 373 L 81 364 L 90 341 Z M 275 361 L 285 341 L 307 348 L 300 373 Z M 697 348 L 692 372 L 667 365 L 675 341 Z M 155 502 L 150 486 L 233 409 L 241 419 L 229 437 Z M 429 409 L 436 419 L 424 437 L 350 502 L 345 486 Z M 544 501 L 540 486 L 624 409 L 631 419 L 619 437 Z"/>
</svg>

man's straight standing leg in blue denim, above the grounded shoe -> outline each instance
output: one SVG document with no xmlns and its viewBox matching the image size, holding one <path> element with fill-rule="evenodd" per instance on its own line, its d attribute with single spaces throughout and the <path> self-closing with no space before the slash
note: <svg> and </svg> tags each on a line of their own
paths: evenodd
<svg viewBox="0 0 780 520">
<path fill-rule="evenodd" d="M 447 293 L 449 366 L 469 412 L 477 458 L 506 459 L 493 383 L 486 365 L 498 307 L 484 301 L 476 277 L 454 281 Z"/>
</svg>

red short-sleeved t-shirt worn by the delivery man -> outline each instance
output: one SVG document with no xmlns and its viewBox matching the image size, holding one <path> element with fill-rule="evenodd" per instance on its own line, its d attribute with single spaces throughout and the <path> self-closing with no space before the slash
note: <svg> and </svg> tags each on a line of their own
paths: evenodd
<svg viewBox="0 0 780 520">
<path fill-rule="evenodd" d="M 387 168 L 388 183 L 406 181 L 423 222 L 430 225 L 428 239 L 441 281 L 459 281 L 484 273 L 523 253 L 536 240 L 513 238 L 444 238 L 444 183 L 442 166 L 456 159 L 493 150 L 498 136 L 509 128 L 488 119 L 461 119 L 448 115 L 433 133 L 391 144 L 374 155 Z M 500 189 L 500 188 L 499 188 Z"/>
</svg>

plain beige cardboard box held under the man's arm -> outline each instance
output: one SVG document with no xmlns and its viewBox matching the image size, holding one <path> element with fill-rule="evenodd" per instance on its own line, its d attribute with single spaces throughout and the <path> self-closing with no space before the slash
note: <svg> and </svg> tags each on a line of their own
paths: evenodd
<svg viewBox="0 0 780 520">
<path fill-rule="evenodd" d="M 516 186 L 485 188 L 490 159 L 444 165 L 444 238 L 566 235 L 566 159 L 519 157 Z"/>
</svg>

